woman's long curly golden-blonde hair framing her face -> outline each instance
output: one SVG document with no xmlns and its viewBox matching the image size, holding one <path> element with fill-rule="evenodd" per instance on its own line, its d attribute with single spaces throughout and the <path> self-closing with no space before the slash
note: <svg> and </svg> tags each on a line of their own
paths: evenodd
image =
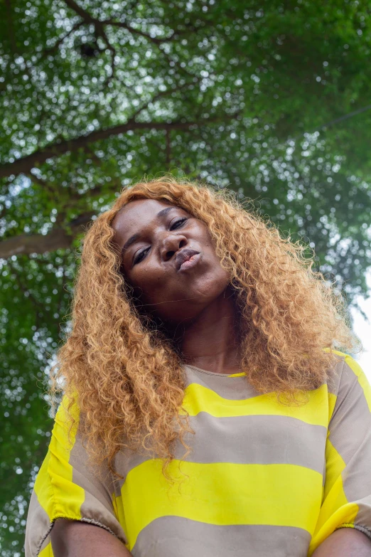
<svg viewBox="0 0 371 557">
<path fill-rule="evenodd" d="M 168 463 L 173 442 L 180 440 L 187 452 L 185 433 L 192 433 L 180 411 L 181 354 L 138 311 L 112 242 L 114 216 L 136 199 L 181 206 L 208 226 L 239 308 L 241 371 L 259 393 L 284 393 L 294 402 L 297 393 L 328 380 L 336 359 L 331 349 L 357 344 L 342 297 L 312 270 L 313 255 L 244 208 L 247 200 L 172 176 L 125 188 L 85 235 L 72 329 L 58 352 L 51 389 L 54 395 L 63 385 L 65 396 L 78 400 L 90 455 L 111 470 L 125 448 L 151 446 Z"/>
</svg>

